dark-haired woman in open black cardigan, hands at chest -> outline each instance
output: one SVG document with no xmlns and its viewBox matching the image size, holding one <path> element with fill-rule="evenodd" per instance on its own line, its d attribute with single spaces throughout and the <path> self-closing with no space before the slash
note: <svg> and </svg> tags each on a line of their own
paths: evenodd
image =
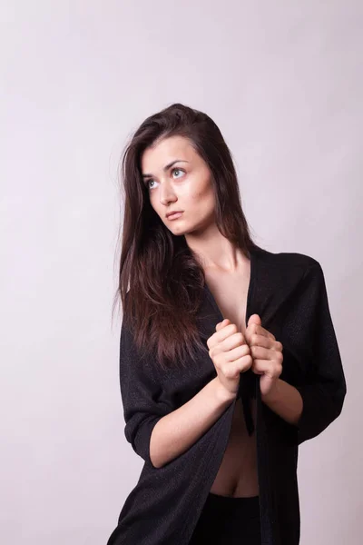
<svg viewBox="0 0 363 545">
<path fill-rule="evenodd" d="M 108 545 L 297 545 L 299 444 L 346 395 L 322 269 L 253 243 L 206 114 L 146 119 L 123 183 L 120 381 L 144 465 Z"/>
</svg>

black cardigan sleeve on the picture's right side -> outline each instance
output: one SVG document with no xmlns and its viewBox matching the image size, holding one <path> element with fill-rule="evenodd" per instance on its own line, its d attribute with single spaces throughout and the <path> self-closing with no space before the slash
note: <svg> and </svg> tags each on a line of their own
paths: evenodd
<svg viewBox="0 0 363 545">
<path fill-rule="evenodd" d="M 325 430 L 340 414 L 347 385 L 329 312 L 324 273 L 319 262 L 305 272 L 309 290 L 304 308 L 311 319 L 312 361 L 308 381 L 296 386 L 303 409 L 298 421 L 298 444 Z M 311 328 L 311 329 L 310 329 Z"/>
</svg>

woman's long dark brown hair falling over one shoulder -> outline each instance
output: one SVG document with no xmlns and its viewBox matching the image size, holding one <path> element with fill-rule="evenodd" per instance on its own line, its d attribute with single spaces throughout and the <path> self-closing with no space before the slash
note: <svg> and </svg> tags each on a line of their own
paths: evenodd
<svg viewBox="0 0 363 545">
<path fill-rule="evenodd" d="M 116 298 L 138 350 L 153 352 L 163 369 L 183 365 L 186 356 L 193 359 L 196 348 L 208 351 L 196 320 L 205 282 L 201 263 L 185 237 L 175 236 L 162 223 L 142 183 L 143 151 L 173 135 L 188 138 L 211 170 L 220 232 L 246 255 L 256 247 L 242 212 L 231 151 L 211 117 L 172 104 L 145 119 L 122 158 L 124 214 Z"/>
</svg>

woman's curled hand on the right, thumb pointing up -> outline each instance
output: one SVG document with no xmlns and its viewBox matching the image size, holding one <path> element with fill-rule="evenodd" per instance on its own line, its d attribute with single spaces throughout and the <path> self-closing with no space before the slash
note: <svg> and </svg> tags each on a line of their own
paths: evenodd
<svg viewBox="0 0 363 545">
<path fill-rule="evenodd" d="M 250 316 L 245 339 L 252 356 L 251 370 L 261 375 L 261 395 L 268 395 L 276 387 L 282 372 L 282 343 L 262 327 L 259 314 Z"/>
</svg>

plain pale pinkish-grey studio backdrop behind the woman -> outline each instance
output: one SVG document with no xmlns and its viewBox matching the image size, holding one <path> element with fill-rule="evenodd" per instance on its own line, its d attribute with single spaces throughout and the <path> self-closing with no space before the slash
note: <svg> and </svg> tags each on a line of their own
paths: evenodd
<svg viewBox="0 0 363 545">
<path fill-rule="evenodd" d="M 348 395 L 299 450 L 301 544 L 358 545 L 362 3 L 0 10 L 2 542 L 105 544 L 138 480 L 111 317 L 117 166 L 146 116 L 182 102 L 219 124 L 256 242 L 322 264 Z"/>
</svg>

